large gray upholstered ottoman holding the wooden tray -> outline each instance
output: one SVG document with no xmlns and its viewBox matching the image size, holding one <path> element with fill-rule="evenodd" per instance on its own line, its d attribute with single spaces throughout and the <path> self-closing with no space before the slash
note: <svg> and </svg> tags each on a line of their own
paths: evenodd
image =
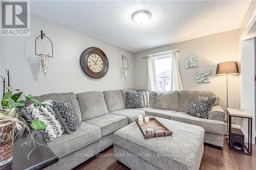
<svg viewBox="0 0 256 170">
<path fill-rule="evenodd" d="M 131 169 L 199 169 L 204 151 L 204 129 L 156 117 L 172 136 L 145 139 L 132 123 L 114 133 L 116 159 Z"/>
</svg>

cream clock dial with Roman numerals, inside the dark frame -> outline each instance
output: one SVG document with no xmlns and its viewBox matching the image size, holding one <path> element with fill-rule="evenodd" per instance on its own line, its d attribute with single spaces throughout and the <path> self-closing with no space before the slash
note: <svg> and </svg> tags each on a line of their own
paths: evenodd
<svg viewBox="0 0 256 170">
<path fill-rule="evenodd" d="M 102 58 L 97 54 L 91 54 L 87 60 L 89 69 L 93 72 L 100 72 L 104 66 Z"/>
</svg>

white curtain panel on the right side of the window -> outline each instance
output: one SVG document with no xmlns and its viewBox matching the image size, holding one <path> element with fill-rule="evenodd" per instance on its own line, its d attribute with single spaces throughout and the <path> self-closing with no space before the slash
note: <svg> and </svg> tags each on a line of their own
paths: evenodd
<svg viewBox="0 0 256 170">
<path fill-rule="evenodd" d="M 172 51 L 172 85 L 170 90 L 183 90 L 183 85 L 180 76 L 180 66 L 179 66 L 179 53 L 177 50 Z"/>
</svg>

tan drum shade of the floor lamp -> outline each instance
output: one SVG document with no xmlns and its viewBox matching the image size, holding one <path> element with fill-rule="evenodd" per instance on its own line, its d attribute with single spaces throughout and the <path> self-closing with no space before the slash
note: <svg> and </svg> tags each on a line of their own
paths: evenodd
<svg viewBox="0 0 256 170">
<path fill-rule="evenodd" d="M 217 65 L 216 75 L 239 75 L 239 68 L 237 61 L 228 61 L 219 63 Z"/>
</svg>

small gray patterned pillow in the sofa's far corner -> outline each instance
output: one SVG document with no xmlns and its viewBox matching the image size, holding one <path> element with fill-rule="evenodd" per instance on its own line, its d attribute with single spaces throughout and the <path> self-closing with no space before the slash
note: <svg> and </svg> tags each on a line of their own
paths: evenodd
<svg viewBox="0 0 256 170">
<path fill-rule="evenodd" d="M 143 92 L 126 92 L 126 108 L 143 108 Z"/>
</svg>

